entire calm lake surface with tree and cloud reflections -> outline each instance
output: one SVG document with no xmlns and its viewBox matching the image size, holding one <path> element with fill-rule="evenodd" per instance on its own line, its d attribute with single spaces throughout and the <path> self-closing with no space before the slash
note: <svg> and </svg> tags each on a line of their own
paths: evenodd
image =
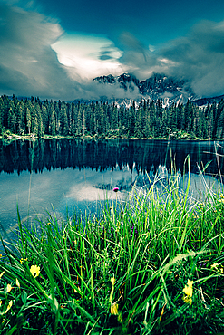
<svg viewBox="0 0 224 335">
<path fill-rule="evenodd" d="M 216 155 L 216 152 L 218 155 Z M 205 187 L 199 177 L 206 168 L 206 182 L 219 187 L 224 169 L 224 142 L 167 140 L 77 139 L 0 141 L 0 233 L 7 237 L 17 226 L 16 206 L 29 222 L 46 211 L 73 215 L 91 211 L 99 200 L 126 196 L 134 183 L 141 187 L 156 172 L 166 176 L 175 162 L 184 174 L 190 155 L 191 193 Z M 187 168 L 187 166 L 185 165 Z"/>
</svg>

